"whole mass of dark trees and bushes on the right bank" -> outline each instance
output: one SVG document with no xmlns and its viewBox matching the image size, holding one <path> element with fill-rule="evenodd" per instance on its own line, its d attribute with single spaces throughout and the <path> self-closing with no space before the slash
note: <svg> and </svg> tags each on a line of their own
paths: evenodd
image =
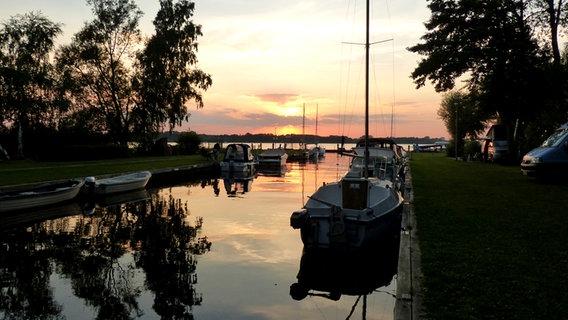
<svg viewBox="0 0 568 320">
<path fill-rule="evenodd" d="M 566 1 L 429 0 L 428 8 L 427 32 L 408 48 L 423 56 L 411 76 L 445 93 L 438 115 L 458 152 L 500 123 L 518 160 L 568 121 Z"/>
</svg>

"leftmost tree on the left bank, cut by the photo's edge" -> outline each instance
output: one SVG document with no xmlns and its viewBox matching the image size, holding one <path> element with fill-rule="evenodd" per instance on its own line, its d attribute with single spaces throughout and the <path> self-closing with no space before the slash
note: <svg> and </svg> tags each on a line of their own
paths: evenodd
<svg viewBox="0 0 568 320">
<path fill-rule="evenodd" d="M 52 106 L 54 78 L 49 58 L 59 34 L 60 24 L 33 12 L 10 18 L 0 30 L 0 122 L 18 127 L 18 158 L 24 156 L 24 129 L 46 121 L 46 111 Z"/>
</svg>

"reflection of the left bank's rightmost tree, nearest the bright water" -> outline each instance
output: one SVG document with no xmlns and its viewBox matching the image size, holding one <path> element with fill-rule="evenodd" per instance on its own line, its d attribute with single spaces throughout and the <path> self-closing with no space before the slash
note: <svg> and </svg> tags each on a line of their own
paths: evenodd
<svg viewBox="0 0 568 320">
<path fill-rule="evenodd" d="M 194 255 L 209 251 L 211 242 L 207 237 L 197 238 L 202 221 L 190 226 L 188 215 L 187 205 L 180 200 L 157 199 L 141 219 L 145 232 L 137 234 L 142 243 L 137 266 L 146 271 L 147 286 L 156 294 L 154 310 L 168 319 L 193 319 L 192 306 L 202 301 L 195 291 Z"/>
</svg>

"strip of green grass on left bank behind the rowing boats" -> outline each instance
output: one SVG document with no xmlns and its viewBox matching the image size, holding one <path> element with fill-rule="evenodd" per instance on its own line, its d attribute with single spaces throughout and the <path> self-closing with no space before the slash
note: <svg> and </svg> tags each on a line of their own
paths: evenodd
<svg viewBox="0 0 568 320">
<path fill-rule="evenodd" d="M 200 155 L 135 157 L 80 162 L 4 161 L 0 162 L 0 186 L 139 170 L 182 167 L 208 161 L 209 160 L 206 160 Z"/>
</svg>

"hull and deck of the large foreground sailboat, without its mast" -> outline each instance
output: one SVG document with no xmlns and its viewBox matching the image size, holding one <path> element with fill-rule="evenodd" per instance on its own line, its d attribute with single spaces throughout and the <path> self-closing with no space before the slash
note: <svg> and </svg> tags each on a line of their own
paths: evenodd
<svg viewBox="0 0 568 320">
<path fill-rule="evenodd" d="M 389 182 L 370 183 L 367 202 L 360 194 L 342 190 L 352 181 L 362 180 L 322 186 L 302 210 L 292 214 L 290 223 L 300 229 L 305 248 L 363 248 L 400 223 L 402 196 Z"/>
</svg>

